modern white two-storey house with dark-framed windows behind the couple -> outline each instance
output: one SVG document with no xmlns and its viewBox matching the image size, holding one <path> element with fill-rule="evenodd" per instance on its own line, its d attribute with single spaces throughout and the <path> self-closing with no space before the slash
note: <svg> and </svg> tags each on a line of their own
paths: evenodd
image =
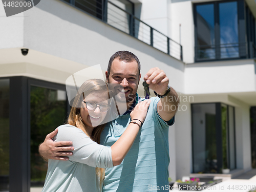
<svg viewBox="0 0 256 192">
<path fill-rule="evenodd" d="M 65 122 L 66 79 L 98 64 L 104 73 L 119 50 L 138 56 L 142 77 L 164 70 L 179 94 L 169 177 L 251 169 L 254 0 L 44 0 L 9 17 L 1 3 L 0 16 L 0 191 L 44 183 L 38 145 Z"/>
</svg>

